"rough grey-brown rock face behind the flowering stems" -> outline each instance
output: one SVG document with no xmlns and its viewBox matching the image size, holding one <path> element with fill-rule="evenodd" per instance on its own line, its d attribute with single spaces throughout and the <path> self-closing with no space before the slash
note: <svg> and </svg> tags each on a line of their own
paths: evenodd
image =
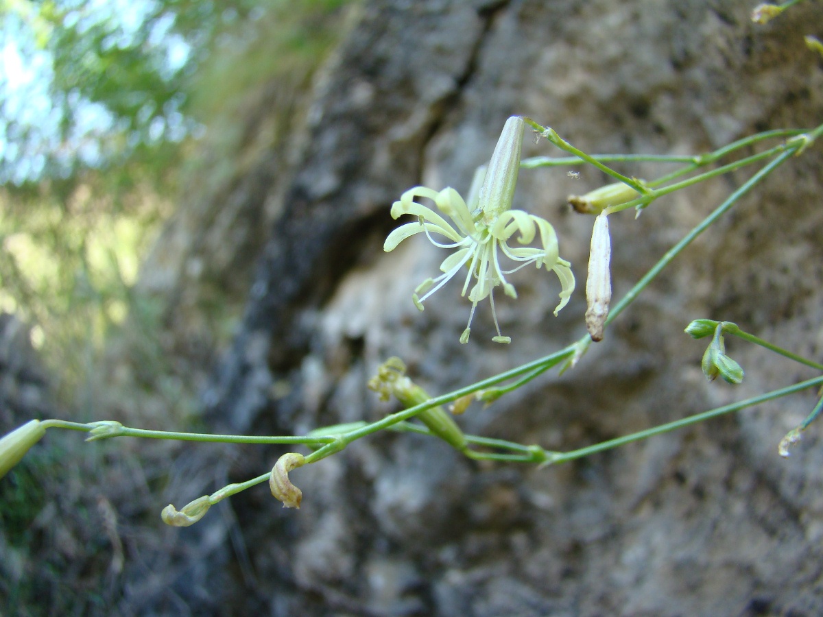
<svg viewBox="0 0 823 617">
<path fill-rule="evenodd" d="M 458 284 L 424 313 L 415 286 L 444 253 L 425 239 L 384 254 L 394 199 L 423 184 L 465 194 L 511 114 L 588 152 L 692 154 L 769 128 L 823 122 L 819 6 L 766 26 L 752 4 L 369 2 L 327 67 L 296 173 L 258 263 L 234 345 L 206 395 L 220 429 L 302 433 L 374 420 L 365 383 L 389 355 L 432 393 L 533 360 L 585 332 L 593 218 L 563 206 L 606 182 L 588 166 L 523 169 L 515 207 L 555 225 L 578 291 L 518 272 L 491 342 L 481 305 L 467 345 Z M 524 155 L 557 155 L 527 136 Z M 459 422 L 472 434 L 569 450 L 783 387 L 815 373 L 742 341 L 741 386 L 706 383 L 694 318 L 726 319 L 812 358 L 823 348 L 823 156 L 790 160 L 659 276 L 574 370 L 546 373 Z M 621 171 L 652 179 L 660 165 Z M 611 216 L 614 301 L 740 186 L 736 171 Z M 613 304 L 614 304 L 613 301 Z M 823 452 L 783 434 L 815 392 L 537 469 L 465 460 L 439 440 L 379 434 L 292 473 L 299 512 L 263 489 L 232 499 L 248 553 L 226 614 L 820 615 Z M 281 449 L 244 450 L 234 481 Z M 242 537 L 240 537 L 242 536 Z M 223 573 L 225 575 L 225 572 Z M 212 598 L 213 600 L 213 598 Z"/>
</svg>

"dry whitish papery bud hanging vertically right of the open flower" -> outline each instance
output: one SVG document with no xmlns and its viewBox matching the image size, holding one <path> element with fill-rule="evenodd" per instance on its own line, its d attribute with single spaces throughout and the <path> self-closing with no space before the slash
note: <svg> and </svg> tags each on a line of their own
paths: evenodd
<svg viewBox="0 0 823 617">
<path fill-rule="evenodd" d="M 588 253 L 588 278 L 586 279 L 586 329 L 593 341 L 602 341 L 603 327 L 609 316 L 611 303 L 611 239 L 609 222 L 605 212 L 594 220 L 592 244 Z"/>
</svg>

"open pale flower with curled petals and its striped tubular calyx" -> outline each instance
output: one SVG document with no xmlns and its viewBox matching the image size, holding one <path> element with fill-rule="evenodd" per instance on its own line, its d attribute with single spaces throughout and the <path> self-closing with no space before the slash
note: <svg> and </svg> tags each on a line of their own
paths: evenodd
<svg viewBox="0 0 823 617">
<path fill-rule="evenodd" d="M 554 228 L 539 216 L 511 209 L 520 166 L 523 127 L 523 118 L 519 116 L 506 121 L 488 167 L 478 169 L 475 174 L 468 203 L 453 188 L 437 192 L 431 188 L 415 187 L 403 193 L 400 201 L 392 205 L 393 218 L 408 214 L 415 216 L 417 220 L 400 225 L 389 234 L 384 251 L 388 253 L 403 240 L 421 233 L 436 247 L 456 249 L 440 264 L 443 274 L 435 279 L 426 279 L 417 286 L 412 296 L 417 308 L 423 310 L 426 299 L 467 267 L 462 295 L 468 294 L 472 311 L 469 313 L 466 330 L 460 336 L 461 343 L 468 341 L 477 303 L 486 298 L 491 303 L 491 314 L 497 330 L 497 336 L 492 341 L 511 341 L 509 336 L 500 334 L 493 294 L 495 287 L 501 285 L 505 295 L 517 298 L 514 285 L 506 280 L 506 276 L 522 267 L 532 263 L 537 268 L 545 266 L 560 278 L 560 304 L 555 308 L 555 314 L 569 302 L 574 291 L 574 274 L 570 263 L 558 254 Z M 425 197 L 435 202 L 437 210 L 452 222 L 449 223 L 432 208 L 415 202 L 415 197 Z M 435 234 L 442 239 L 435 238 Z M 520 246 L 509 246 L 509 241 L 515 234 Z M 532 244 L 538 235 L 537 246 L 526 246 Z M 503 253 L 514 265 L 509 269 L 501 267 L 499 253 Z"/>
</svg>

